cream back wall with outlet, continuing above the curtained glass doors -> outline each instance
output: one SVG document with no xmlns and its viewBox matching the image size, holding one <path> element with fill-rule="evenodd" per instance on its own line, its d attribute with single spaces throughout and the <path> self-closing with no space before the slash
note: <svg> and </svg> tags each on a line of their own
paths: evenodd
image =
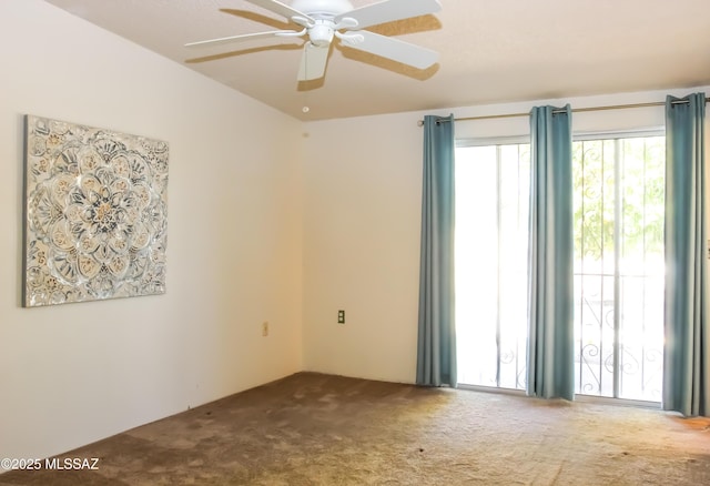
<svg viewBox="0 0 710 486">
<path fill-rule="evenodd" d="M 304 162 L 304 366 L 413 383 L 424 114 L 456 118 L 663 102 L 710 87 L 540 100 L 307 124 Z M 577 112 L 575 132 L 658 129 L 663 107 Z M 457 138 L 529 135 L 527 117 L 456 123 Z M 710 156 L 708 156 L 710 160 Z M 346 324 L 336 324 L 337 310 Z"/>
</svg>

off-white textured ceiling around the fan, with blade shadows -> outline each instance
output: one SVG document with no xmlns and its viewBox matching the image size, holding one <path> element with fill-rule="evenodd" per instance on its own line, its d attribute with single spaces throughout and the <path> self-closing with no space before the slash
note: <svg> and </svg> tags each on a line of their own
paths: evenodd
<svg viewBox="0 0 710 486">
<path fill-rule="evenodd" d="M 301 120 L 710 84 L 710 0 L 440 0 L 368 29 L 438 51 L 434 67 L 338 48 L 301 85 L 300 39 L 183 47 L 295 28 L 243 0 L 47 1 Z"/>
</svg>

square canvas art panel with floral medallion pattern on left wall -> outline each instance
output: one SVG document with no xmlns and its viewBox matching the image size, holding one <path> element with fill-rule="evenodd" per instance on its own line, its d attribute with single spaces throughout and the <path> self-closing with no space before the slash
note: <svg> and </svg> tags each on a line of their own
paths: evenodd
<svg viewBox="0 0 710 486">
<path fill-rule="evenodd" d="M 166 142 L 26 117 L 24 305 L 165 292 Z"/>
</svg>

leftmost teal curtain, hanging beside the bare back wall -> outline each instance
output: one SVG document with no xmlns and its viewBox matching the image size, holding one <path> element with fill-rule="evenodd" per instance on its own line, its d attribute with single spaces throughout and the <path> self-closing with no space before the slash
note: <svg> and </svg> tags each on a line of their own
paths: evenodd
<svg viewBox="0 0 710 486">
<path fill-rule="evenodd" d="M 456 386 L 454 117 L 424 117 L 417 384 Z"/>
</svg>

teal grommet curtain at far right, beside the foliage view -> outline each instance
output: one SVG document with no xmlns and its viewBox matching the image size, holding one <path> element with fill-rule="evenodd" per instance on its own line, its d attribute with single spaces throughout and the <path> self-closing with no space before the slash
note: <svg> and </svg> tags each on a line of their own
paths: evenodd
<svg viewBox="0 0 710 486">
<path fill-rule="evenodd" d="M 663 408 L 710 409 L 703 93 L 666 100 Z"/>
</svg>

